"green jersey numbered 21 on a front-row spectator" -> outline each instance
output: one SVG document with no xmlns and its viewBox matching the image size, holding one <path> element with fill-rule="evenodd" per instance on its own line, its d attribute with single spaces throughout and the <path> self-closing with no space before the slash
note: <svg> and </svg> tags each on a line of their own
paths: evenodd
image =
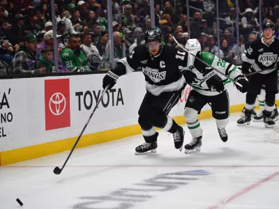
<svg viewBox="0 0 279 209">
<path fill-rule="evenodd" d="M 91 71 L 87 65 L 86 56 L 81 51 L 80 56 L 75 55 L 72 49 L 65 48 L 60 53 L 61 61 L 70 71 Z"/>
</svg>

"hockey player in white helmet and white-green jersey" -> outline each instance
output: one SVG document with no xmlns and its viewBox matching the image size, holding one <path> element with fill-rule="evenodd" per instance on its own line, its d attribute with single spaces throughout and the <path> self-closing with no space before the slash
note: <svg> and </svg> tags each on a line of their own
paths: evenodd
<svg viewBox="0 0 279 209">
<path fill-rule="evenodd" d="M 214 71 L 214 73 L 219 75 L 220 79 L 223 80 L 224 86 L 220 89 L 209 88 L 208 85 L 206 85 L 206 79 L 202 76 L 201 70 L 195 68 L 193 65 L 195 57 L 190 56 L 190 54 L 200 54 L 206 63 L 234 79 L 234 81 L 237 81 L 242 85 L 242 87 L 236 85 L 236 88 L 242 93 L 247 91 L 249 83 L 246 77 L 243 77 L 241 70 L 239 70 L 235 65 L 227 63 L 209 52 L 201 53 L 201 46 L 197 39 L 188 40 L 186 43 L 186 50 L 190 52 L 188 56 L 188 70 L 191 70 L 194 74 L 193 77 L 188 75 L 186 78 L 186 82 L 193 87 L 193 90 L 190 91 L 188 96 L 184 116 L 193 139 L 189 144 L 186 144 L 185 153 L 195 153 L 199 152 L 200 147 L 202 146 L 202 128 L 197 120 L 197 115 L 207 103 L 211 104 L 212 115 L 213 118 L 216 119 L 216 125 L 220 138 L 224 142 L 227 141 L 227 132 L 225 127 L 229 123 L 229 95 L 224 86 L 230 81 L 227 77 L 224 77 L 223 75 L 218 74 L 217 71 Z"/>
</svg>

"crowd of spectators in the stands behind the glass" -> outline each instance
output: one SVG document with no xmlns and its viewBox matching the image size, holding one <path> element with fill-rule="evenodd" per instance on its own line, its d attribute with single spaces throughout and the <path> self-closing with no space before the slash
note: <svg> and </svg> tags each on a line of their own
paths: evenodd
<svg viewBox="0 0 279 209">
<path fill-rule="evenodd" d="M 259 1 L 219 0 L 220 49 L 216 26 L 216 1 L 190 0 L 186 15 L 185 1 L 154 0 L 156 27 L 163 33 L 165 45 L 181 44 L 197 38 L 204 52 L 236 63 L 250 42 L 260 37 Z M 279 36 L 279 1 L 262 0 L 262 23 L 274 22 Z M 110 44 L 114 59 L 127 56 L 144 44 L 144 32 L 151 28 L 149 0 L 130 0 L 123 5 L 112 0 L 113 38 L 109 40 L 107 1 L 55 0 L 57 57 L 54 57 L 50 0 L 0 0 L 0 68 L 11 67 L 14 75 L 56 72 L 83 72 L 110 68 Z M 239 13 L 239 22 L 236 22 Z M 123 14 L 126 21 L 123 22 Z M 121 27 L 123 24 L 123 27 Z M 188 24 L 190 31 L 188 31 Z M 239 47 L 236 46 L 239 26 Z M 125 31 L 125 40 L 121 32 Z M 126 50 L 122 49 L 125 41 Z M 176 46 L 178 47 L 178 46 Z M 237 51 L 239 49 L 239 52 Z M 241 61 L 241 59 L 240 59 Z"/>
</svg>

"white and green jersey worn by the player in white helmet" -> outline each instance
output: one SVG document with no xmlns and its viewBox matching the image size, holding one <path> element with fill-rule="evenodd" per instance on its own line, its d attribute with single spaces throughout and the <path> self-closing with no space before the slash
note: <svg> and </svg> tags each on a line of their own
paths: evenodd
<svg viewBox="0 0 279 209">
<path fill-rule="evenodd" d="M 190 56 L 190 55 L 189 55 Z M 193 57 L 193 56 L 192 56 Z M 228 75 L 230 78 L 235 79 L 237 76 L 242 75 L 241 70 L 237 68 L 235 65 L 232 65 L 231 63 L 227 63 L 226 61 L 223 61 L 222 59 L 219 59 L 214 54 L 211 54 L 209 52 L 202 52 L 202 59 L 206 61 L 209 65 L 216 68 L 220 72 L 223 72 L 225 75 Z M 195 72 L 195 75 L 197 75 L 197 79 L 193 84 L 191 85 L 197 92 L 203 94 L 203 95 L 218 95 L 218 92 L 211 92 L 209 90 L 209 87 L 207 86 L 204 77 L 202 76 L 202 73 L 199 72 L 195 68 L 194 65 L 191 63 L 194 63 L 193 61 L 195 58 L 188 61 L 188 70 L 192 70 Z M 223 80 L 224 86 L 226 87 L 226 84 L 229 84 L 231 81 L 224 77 L 223 75 L 220 75 L 217 71 L 215 71 Z"/>
</svg>

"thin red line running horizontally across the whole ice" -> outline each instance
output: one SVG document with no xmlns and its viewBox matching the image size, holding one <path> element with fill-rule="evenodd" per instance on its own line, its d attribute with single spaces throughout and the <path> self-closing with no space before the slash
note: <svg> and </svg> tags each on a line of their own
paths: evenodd
<svg viewBox="0 0 279 209">
<path fill-rule="evenodd" d="M 54 168 L 56 166 L 3 166 L 0 168 Z M 68 165 L 66 166 L 68 168 L 80 168 L 80 167 L 204 167 L 204 168 L 236 168 L 236 167 L 243 167 L 243 168 L 271 168 L 271 167 L 279 167 L 279 165 L 271 165 L 271 166 L 265 166 L 265 165 L 259 165 L 259 166 L 250 166 L 250 165 L 156 165 L 156 164 L 151 164 L 151 165 Z"/>
</svg>

